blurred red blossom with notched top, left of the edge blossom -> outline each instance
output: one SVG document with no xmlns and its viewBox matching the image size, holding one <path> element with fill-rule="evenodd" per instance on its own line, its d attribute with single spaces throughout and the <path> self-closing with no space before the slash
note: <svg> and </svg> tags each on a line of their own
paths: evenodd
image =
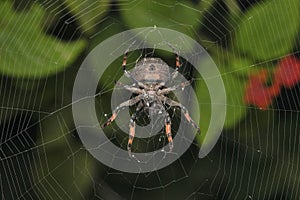
<svg viewBox="0 0 300 200">
<path fill-rule="evenodd" d="M 252 74 L 246 85 L 244 101 L 260 109 L 267 109 L 272 104 L 273 98 L 280 92 L 280 86 L 273 84 L 267 86 L 268 71 L 263 69 L 257 74 Z"/>
</svg>

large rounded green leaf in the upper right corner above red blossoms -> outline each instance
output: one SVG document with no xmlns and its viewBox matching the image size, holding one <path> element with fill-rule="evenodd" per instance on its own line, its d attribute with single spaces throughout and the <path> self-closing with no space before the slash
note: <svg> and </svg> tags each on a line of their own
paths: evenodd
<svg viewBox="0 0 300 200">
<path fill-rule="evenodd" d="M 235 32 L 235 48 L 260 60 L 290 52 L 300 25 L 299 4 L 272 0 L 251 8 Z"/>
</svg>

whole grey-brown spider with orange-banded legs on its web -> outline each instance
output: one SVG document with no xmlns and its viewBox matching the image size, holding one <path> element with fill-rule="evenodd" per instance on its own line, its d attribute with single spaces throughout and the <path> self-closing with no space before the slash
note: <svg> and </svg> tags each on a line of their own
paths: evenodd
<svg viewBox="0 0 300 200">
<path fill-rule="evenodd" d="M 125 85 L 123 83 L 116 83 L 122 88 L 129 90 L 137 96 L 121 103 L 117 106 L 112 113 L 112 116 L 102 125 L 102 128 L 111 124 L 117 117 L 118 112 L 125 107 L 130 107 L 135 104 L 137 105 L 136 112 L 131 115 L 129 123 L 129 139 L 127 144 L 127 150 L 129 156 L 131 156 L 131 146 L 135 135 L 135 122 L 137 120 L 138 114 L 142 110 L 146 110 L 152 114 L 164 114 L 165 122 L 165 133 L 168 138 L 170 151 L 173 149 L 173 138 L 171 133 L 171 118 L 168 112 L 165 110 L 164 105 L 169 105 L 170 107 L 179 107 L 181 112 L 184 114 L 186 120 L 197 130 L 200 134 L 200 128 L 190 117 L 188 110 L 179 102 L 176 102 L 167 97 L 167 95 L 175 91 L 178 88 L 185 88 L 190 85 L 190 81 L 182 82 L 178 85 L 173 85 L 166 87 L 166 82 L 173 80 L 178 75 L 178 69 L 181 64 L 179 61 L 179 56 L 176 53 L 176 68 L 175 71 L 170 73 L 169 66 L 162 61 L 160 58 L 150 57 L 143 58 L 139 60 L 134 69 L 129 72 L 126 69 L 128 51 L 125 52 L 123 58 L 123 71 L 126 77 L 133 81 L 132 85 Z"/>
</svg>

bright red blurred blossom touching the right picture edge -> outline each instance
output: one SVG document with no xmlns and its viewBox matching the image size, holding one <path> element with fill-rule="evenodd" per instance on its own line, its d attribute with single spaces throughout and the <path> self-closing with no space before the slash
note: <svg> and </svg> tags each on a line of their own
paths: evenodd
<svg viewBox="0 0 300 200">
<path fill-rule="evenodd" d="M 278 63 L 274 72 L 274 84 L 292 88 L 300 82 L 300 61 L 294 56 L 286 56 Z"/>
</svg>

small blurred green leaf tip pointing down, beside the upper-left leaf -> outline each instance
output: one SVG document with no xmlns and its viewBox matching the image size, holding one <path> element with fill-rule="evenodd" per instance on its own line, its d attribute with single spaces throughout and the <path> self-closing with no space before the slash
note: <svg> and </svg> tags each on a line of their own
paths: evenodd
<svg viewBox="0 0 300 200">
<path fill-rule="evenodd" d="M 84 32 L 91 34 L 109 10 L 110 1 L 64 0 L 71 13 L 78 19 Z"/>
</svg>

